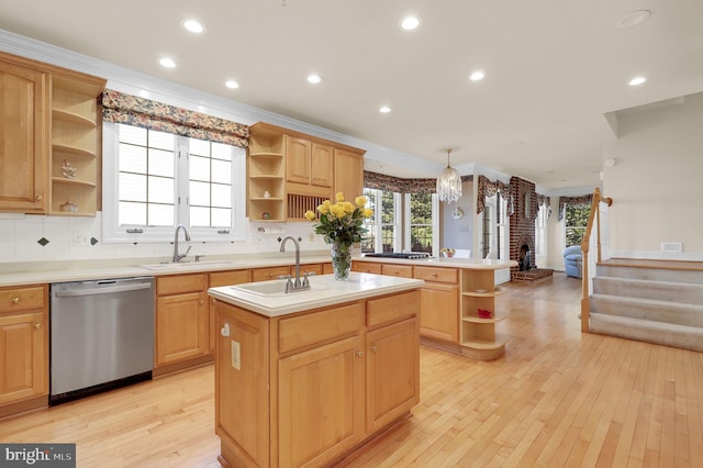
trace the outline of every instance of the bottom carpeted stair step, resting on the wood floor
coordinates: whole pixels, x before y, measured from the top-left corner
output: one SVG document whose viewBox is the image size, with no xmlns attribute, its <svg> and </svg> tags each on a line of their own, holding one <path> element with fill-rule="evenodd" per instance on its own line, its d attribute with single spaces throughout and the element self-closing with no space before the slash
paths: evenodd
<svg viewBox="0 0 703 468">
<path fill-rule="evenodd" d="M 703 352 L 703 328 L 626 316 L 593 313 L 591 333 Z"/>
</svg>

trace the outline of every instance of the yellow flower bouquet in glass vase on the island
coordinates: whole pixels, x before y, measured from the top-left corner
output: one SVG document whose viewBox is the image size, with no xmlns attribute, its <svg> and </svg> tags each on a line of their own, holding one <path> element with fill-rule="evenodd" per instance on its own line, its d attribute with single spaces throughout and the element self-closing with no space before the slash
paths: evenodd
<svg viewBox="0 0 703 468">
<path fill-rule="evenodd" d="M 367 199 L 359 196 L 354 203 L 344 199 L 344 193 L 335 196 L 336 202 L 325 200 L 317 207 L 317 213 L 305 212 L 309 221 L 315 221 L 315 233 L 324 235 L 325 242 L 332 246 L 332 266 L 335 278 L 345 280 L 352 268 L 352 245 L 361 242 L 367 232 L 364 220 L 371 218 L 373 211 L 366 208 Z"/>
</svg>

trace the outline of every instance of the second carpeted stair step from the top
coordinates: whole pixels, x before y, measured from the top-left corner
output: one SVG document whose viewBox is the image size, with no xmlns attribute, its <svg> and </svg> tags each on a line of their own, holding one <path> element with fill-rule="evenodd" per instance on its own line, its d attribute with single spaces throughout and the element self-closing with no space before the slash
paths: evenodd
<svg viewBox="0 0 703 468">
<path fill-rule="evenodd" d="M 593 292 L 687 304 L 703 304 L 703 283 L 603 276 L 593 278 Z"/>
</svg>

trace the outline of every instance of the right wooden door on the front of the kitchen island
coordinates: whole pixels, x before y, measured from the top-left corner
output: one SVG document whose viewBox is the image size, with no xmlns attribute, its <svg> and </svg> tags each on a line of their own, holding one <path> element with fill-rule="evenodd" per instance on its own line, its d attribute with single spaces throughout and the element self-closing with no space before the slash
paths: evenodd
<svg viewBox="0 0 703 468">
<path fill-rule="evenodd" d="M 368 332 L 366 343 L 366 430 L 370 433 L 420 401 L 417 319 Z"/>
</svg>

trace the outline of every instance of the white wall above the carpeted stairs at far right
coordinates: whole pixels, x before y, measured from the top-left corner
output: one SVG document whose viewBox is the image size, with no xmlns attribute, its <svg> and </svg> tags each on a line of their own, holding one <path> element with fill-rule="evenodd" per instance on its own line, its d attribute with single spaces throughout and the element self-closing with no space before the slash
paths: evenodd
<svg viewBox="0 0 703 468">
<path fill-rule="evenodd" d="M 703 93 L 683 103 L 617 113 L 604 146 L 603 189 L 613 257 L 703 260 Z M 660 252 L 681 242 L 683 254 Z"/>
</svg>

